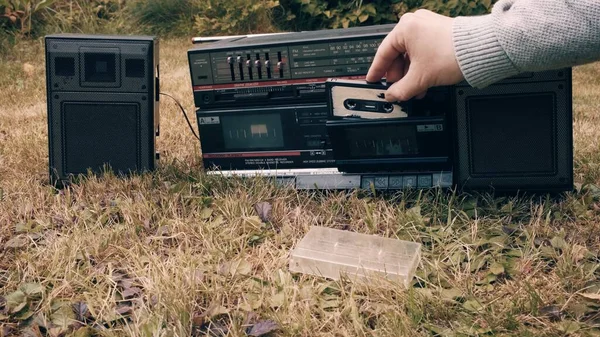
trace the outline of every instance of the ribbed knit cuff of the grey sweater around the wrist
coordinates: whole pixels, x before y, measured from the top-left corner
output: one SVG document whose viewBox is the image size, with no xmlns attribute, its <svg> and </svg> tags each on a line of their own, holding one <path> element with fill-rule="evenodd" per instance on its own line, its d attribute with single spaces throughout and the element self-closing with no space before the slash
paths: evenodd
<svg viewBox="0 0 600 337">
<path fill-rule="evenodd" d="M 496 37 L 492 15 L 457 17 L 452 35 L 456 59 L 471 86 L 484 88 L 519 73 Z"/>
</svg>

